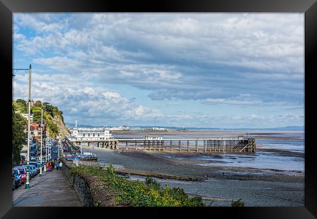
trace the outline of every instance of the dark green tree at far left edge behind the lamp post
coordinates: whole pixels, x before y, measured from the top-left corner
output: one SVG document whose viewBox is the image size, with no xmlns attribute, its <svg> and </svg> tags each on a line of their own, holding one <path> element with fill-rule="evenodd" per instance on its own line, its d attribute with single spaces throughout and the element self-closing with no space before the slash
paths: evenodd
<svg viewBox="0 0 317 219">
<path fill-rule="evenodd" d="M 15 107 L 12 106 L 12 154 L 13 164 L 20 164 L 20 151 L 22 144 L 25 144 L 25 133 L 23 125 L 25 125 L 25 118 L 19 113 L 15 112 Z"/>
</svg>

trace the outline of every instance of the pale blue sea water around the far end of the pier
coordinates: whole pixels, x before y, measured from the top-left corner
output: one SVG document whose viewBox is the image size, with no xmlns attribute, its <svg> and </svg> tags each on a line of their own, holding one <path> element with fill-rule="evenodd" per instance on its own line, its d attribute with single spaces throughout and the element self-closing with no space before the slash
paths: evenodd
<svg viewBox="0 0 317 219">
<path fill-rule="evenodd" d="M 224 133 L 219 133 L 223 131 Z M 113 133 L 115 138 L 143 138 L 145 135 L 158 135 L 164 139 L 168 138 L 197 138 L 197 137 L 237 137 L 237 130 L 190 130 L 183 134 L 173 135 L 167 134 L 145 134 L 127 133 L 116 134 Z M 203 136 L 201 133 L 203 132 Z M 246 136 L 246 131 L 240 131 Z M 228 167 L 245 167 L 255 169 L 267 169 L 276 171 L 304 171 L 304 131 L 250 131 L 248 137 L 256 138 L 257 151 L 255 153 L 230 153 L 223 152 L 211 155 L 198 155 L 189 158 L 178 157 L 177 154 L 173 156 L 166 156 L 172 159 L 191 159 L 191 160 L 204 160 L 210 161 L 206 164 L 197 165 L 211 165 L 211 166 L 228 166 Z M 240 134 L 239 134 L 240 135 Z M 265 136 L 266 138 L 272 136 L 272 139 L 257 139 L 257 137 Z M 280 139 L 279 139 L 280 138 Z M 284 140 L 289 138 L 290 140 Z M 298 139 L 298 140 L 293 140 Z M 262 150 L 263 148 L 263 150 Z M 269 149 L 269 150 L 268 150 Z M 273 149 L 273 151 L 270 151 Z M 292 152 L 292 153 L 283 153 Z"/>
</svg>

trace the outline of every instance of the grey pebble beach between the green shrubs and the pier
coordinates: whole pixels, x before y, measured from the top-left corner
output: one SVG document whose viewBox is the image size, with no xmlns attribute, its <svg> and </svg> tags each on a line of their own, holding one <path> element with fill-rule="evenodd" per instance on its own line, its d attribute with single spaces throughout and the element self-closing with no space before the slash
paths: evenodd
<svg viewBox="0 0 317 219">
<path fill-rule="evenodd" d="M 97 154 L 98 162 L 121 164 L 126 169 L 203 177 L 204 182 L 155 178 L 162 186 L 179 187 L 188 195 L 242 199 L 245 206 L 304 206 L 304 173 L 270 169 L 206 166 L 195 158 L 201 153 L 178 151 L 112 150 L 82 146 Z M 190 158 L 190 159 L 189 159 Z M 132 176 L 144 180 L 145 177 Z M 205 201 L 206 203 L 210 201 Z M 230 201 L 214 201 L 212 206 L 230 206 Z"/>
</svg>

